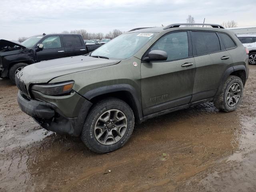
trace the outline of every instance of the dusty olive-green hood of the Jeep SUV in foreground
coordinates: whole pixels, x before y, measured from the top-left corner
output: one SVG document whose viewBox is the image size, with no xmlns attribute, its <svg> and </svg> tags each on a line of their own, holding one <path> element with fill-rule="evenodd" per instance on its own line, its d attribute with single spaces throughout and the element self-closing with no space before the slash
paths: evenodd
<svg viewBox="0 0 256 192">
<path fill-rule="evenodd" d="M 106 67 L 119 63 L 120 60 L 94 58 L 90 56 L 74 56 L 53 59 L 31 64 L 18 74 L 26 84 L 46 83 L 58 76 Z"/>
</svg>

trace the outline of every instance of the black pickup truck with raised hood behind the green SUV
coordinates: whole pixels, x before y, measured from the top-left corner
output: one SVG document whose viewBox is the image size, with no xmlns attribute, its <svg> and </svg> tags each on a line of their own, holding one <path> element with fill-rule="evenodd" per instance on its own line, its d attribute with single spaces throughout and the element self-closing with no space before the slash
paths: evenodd
<svg viewBox="0 0 256 192">
<path fill-rule="evenodd" d="M 85 45 L 79 34 L 42 34 L 17 41 L 0 40 L 0 77 L 15 83 L 15 74 L 29 64 L 43 60 L 78 56 L 101 46 Z"/>
</svg>

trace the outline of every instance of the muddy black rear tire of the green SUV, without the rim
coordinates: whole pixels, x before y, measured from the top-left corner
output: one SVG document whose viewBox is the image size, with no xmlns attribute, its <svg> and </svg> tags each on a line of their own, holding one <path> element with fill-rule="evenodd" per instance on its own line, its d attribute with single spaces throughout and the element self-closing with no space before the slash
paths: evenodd
<svg viewBox="0 0 256 192">
<path fill-rule="evenodd" d="M 228 96 L 228 91 L 230 90 L 231 86 L 234 84 L 239 84 L 240 86 L 240 97 L 237 102 L 232 102 L 234 106 L 230 106 L 228 104 L 227 96 Z M 238 76 L 230 75 L 224 82 L 222 89 L 220 90 L 220 94 L 216 96 L 216 98 L 214 99 L 214 106 L 217 109 L 222 110 L 224 112 L 234 111 L 238 108 L 240 102 L 242 101 L 243 93 L 244 93 L 244 84 L 242 80 Z"/>
</svg>

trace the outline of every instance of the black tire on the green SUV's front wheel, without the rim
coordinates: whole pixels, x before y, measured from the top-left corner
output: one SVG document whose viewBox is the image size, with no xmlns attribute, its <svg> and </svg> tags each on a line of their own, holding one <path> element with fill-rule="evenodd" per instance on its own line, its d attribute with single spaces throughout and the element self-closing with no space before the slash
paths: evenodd
<svg viewBox="0 0 256 192">
<path fill-rule="evenodd" d="M 124 115 L 124 117 L 126 118 L 125 122 L 126 122 L 126 130 L 125 127 L 124 130 L 122 130 L 122 136 L 120 138 L 118 138 L 119 140 L 112 140 L 112 142 L 115 142 L 114 144 L 102 144 L 99 140 L 97 140 L 96 138 L 96 131 L 98 131 L 97 128 L 95 128 L 96 123 L 102 123 L 101 126 L 103 127 L 107 127 L 110 126 L 110 124 L 112 123 L 112 120 L 106 120 L 105 122 L 110 123 L 110 124 L 106 124 L 103 121 L 101 122 L 101 120 L 99 120 L 100 118 L 102 118 L 102 116 L 104 116 L 105 114 L 110 114 L 112 111 L 111 110 L 116 110 L 116 111 L 120 111 L 121 113 L 117 112 L 117 114 L 121 114 Z M 113 117 L 113 115 L 112 115 Z M 118 117 L 119 118 L 119 117 Z M 106 119 L 108 119 L 108 116 L 106 117 Z M 114 119 L 113 118 L 109 118 L 109 119 Z M 116 122 L 117 123 L 117 122 Z M 116 126 L 116 123 L 114 123 L 113 120 L 113 124 Z M 105 128 L 106 128 L 105 127 Z M 128 139 L 130 138 L 132 131 L 134 128 L 134 114 L 132 112 L 132 109 L 130 108 L 130 106 L 124 102 L 123 100 L 120 100 L 118 98 L 107 98 L 105 100 L 101 100 L 100 102 L 98 102 L 97 104 L 95 104 L 94 106 L 92 106 L 92 108 L 90 109 L 85 123 L 84 123 L 84 127 L 82 129 L 82 133 L 81 133 L 81 139 L 84 142 L 84 144 L 93 152 L 96 153 L 107 153 L 107 152 L 111 152 L 114 151 L 122 146 L 124 146 L 124 144 L 128 141 Z M 95 130 L 96 129 L 96 130 Z M 102 134 L 102 130 L 104 128 L 100 128 L 100 134 Z M 114 126 L 113 126 L 113 130 L 109 131 L 110 129 L 106 128 L 106 137 L 104 138 L 108 138 L 108 134 L 110 133 L 111 135 L 114 135 L 113 132 L 115 133 L 114 130 Z M 121 130 L 121 128 L 120 128 Z M 98 136 L 99 136 L 98 135 Z M 102 134 L 103 135 L 103 134 Z M 117 136 L 119 137 L 119 136 Z M 103 136 L 102 136 L 103 138 Z M 110 138 L 111 139 L 111 138 Z M 107 139 L 108 140 L 108 139 Z M 111 140 L 110 140 L 111 141 Z M 102 141 L 104 142 L 104 141 Z"/>
</svg>

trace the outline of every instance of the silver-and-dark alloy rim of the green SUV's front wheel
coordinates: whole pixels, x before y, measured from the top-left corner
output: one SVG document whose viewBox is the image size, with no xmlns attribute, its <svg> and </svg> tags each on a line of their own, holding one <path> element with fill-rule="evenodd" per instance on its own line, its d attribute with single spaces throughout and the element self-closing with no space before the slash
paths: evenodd
<svg viewBox="0 0 256 192">
<path fill-rule="evenodd" d="M 98 142 L 111 145 L 118 142 L 125 134 L 127 118 L 117 109 L 104 112 L 96 121 L 94 134 Z"/>
</svg>

